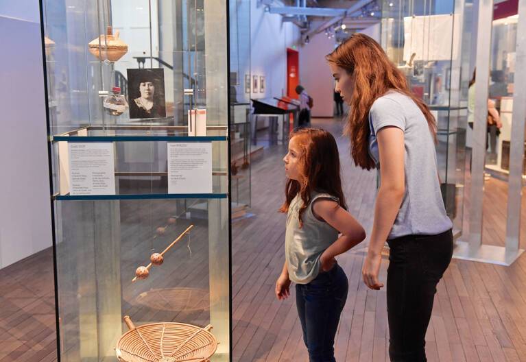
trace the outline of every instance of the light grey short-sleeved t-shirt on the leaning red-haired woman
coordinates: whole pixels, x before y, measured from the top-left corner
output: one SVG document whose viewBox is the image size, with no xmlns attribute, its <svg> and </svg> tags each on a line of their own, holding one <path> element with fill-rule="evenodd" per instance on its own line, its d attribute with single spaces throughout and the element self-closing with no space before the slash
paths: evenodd
<svg viewBox="0 0 526 362">
<path fill-rule="evenodd" d="M 437 157 L 427 119 L 407 95 L 390 91 L 369 111 L 369 151 L 380 169 L 376 134 L 394 126 L 404 132 L 405 194 L 388 239 L 405 235 L 434 235 L 453 227 L 446 215 L 437 172 Z"/>
</svg>

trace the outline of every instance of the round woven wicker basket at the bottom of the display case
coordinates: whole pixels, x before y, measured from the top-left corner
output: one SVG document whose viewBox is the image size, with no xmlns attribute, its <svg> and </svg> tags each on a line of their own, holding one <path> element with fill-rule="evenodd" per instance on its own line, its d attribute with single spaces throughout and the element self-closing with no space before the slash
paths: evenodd
<svg viewBox="0 0 526 362">
<path fill-rule="evenodd" d="M 115 352 L 121 362 L 206 362 L 217 350 L 217 339 L 204 328 L 183 323 L 152 323 L 134 326 L 124 317 L 124 333 Z"/>
</svg>

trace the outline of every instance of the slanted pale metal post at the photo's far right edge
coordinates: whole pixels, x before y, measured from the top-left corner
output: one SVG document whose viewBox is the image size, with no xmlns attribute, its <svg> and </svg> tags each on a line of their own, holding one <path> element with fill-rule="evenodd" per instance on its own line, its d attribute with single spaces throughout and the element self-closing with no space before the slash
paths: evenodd
<svg viewBox="0 0 526 362">
<path fill-rule="evenodd" d="M 514 256 L 521 241 L 521 201 L 523 189 L 524 131 L 526 119 L 526 0 L 518 2 L 514 74 L 512 139 L 510 142 L 510 180 L 507 189 L 506 252 Z"/>
</svg>

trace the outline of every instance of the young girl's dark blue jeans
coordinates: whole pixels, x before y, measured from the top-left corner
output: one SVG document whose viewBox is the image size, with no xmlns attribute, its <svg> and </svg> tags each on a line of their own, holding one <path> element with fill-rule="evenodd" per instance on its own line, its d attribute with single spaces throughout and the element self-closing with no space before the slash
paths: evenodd
<svg viewBox="0 0 526 362">
<path fill-rule="evenodd" d="M 335 362 L 334 338 L 347 300 L 347 276 L 339 265 L 296 285 L 296 306 L 310 362 Z"/>
</svg>

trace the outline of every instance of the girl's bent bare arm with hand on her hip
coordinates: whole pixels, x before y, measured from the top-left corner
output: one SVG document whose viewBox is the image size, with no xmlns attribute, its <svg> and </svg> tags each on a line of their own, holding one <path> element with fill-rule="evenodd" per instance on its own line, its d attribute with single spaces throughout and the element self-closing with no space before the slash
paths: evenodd
<svg viewBox="0 0 526 362">
<path fill-rule="evenodd" d="M 338 230 L 342 235 L 321 256 L 322 269 L 331 269 L 333 259 L 366 239 L 366 230 L 344 208 L 333 200 L 316 200 L 312 206 L 314 215 Z"/>
</svg>

